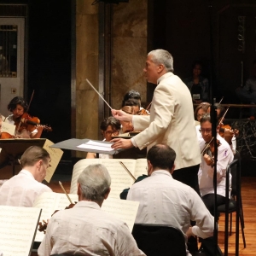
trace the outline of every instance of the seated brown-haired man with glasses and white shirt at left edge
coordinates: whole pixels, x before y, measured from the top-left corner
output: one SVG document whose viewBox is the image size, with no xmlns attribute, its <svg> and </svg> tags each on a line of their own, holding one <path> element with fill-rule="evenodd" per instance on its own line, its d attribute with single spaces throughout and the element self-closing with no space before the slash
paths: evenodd
<svg viewBox="0 0 256 256">
<path fill-rule="evenodd" d="M 52 192 L 42 181 L 49 167 L 49 153 L 38 146 L 27 148 L 20 159 L 22 170 L 0 188 L 0 205 L 32 207 L 38 195 Z"/>
</svg>

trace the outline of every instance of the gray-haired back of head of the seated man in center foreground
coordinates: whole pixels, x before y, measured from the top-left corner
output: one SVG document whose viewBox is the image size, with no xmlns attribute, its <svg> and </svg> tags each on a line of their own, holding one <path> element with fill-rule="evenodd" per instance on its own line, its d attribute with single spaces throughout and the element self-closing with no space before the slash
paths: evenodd
<svg viewBox="0 0 256 256">
<path fill-rule="evenodd" d="M 102 202 L 108 193 L 111 177 L 103 165 L 90 165 L 79 175 L 82 196 L 88 201 Z"/>
</svg>

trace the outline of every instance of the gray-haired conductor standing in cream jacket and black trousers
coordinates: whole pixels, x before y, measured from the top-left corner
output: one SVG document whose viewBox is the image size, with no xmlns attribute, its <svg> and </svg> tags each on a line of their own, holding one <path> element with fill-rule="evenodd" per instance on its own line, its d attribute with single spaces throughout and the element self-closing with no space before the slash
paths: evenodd
<svg viewBox="0 0 256 256">
<path fill-rule="evenodd" d="M 186 84 L 173 72 L 172 55 L 164 49 L 148 53 L 144 73 L 154 90 L 150 115 L 129 115 L 112 110 L 119 120 L 132 121 L 135 131 L 142 131 L 131 139 L 113 139 L 113 148 L 151 148 L 166 143 L 177 153 L 173 177 L 194 188 L 198 193 L 197 172 L 201 162 L 196 140 L 193 104 Z"/>
</svg>

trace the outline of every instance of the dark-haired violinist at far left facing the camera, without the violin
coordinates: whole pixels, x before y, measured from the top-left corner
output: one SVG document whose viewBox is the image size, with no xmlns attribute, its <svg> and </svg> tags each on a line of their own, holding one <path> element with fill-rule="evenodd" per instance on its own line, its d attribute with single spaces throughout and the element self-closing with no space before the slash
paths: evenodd
<svg viewBox="0 0 256 256">
<path fill-rule="evenodd" d="M 9 104 L 8 109 L 12 114 L 10 114 L 4 122 L 9 122 L 9 124 L 16 125 L 16 129 L 18 129 L 17 126 L 20 124 L 20 119 L 23 115 L 23 113 L 26 113 L 27 110 L 27 104 L 24 101 L 24 99 L 20 96 L 16 96 L 13 98 Z M 21 124 L 22 125 L 22 124 Z M 19 131 L 16 133 L 16 137 L 22 137 L 22 138 L 39 138 L 42 135 L 42 132 L 44 131 L 43 125 L 35 125 L 32 131 L 28 131 L 26 129 L 26 125 L 20 126 Z"/>
</svg>

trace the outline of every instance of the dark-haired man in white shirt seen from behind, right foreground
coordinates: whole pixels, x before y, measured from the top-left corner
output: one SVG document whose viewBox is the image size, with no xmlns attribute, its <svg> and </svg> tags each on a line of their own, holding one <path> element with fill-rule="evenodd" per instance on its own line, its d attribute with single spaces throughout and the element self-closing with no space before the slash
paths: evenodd
<svg viewBox="0 0 256 256">
<path fill-rule="evenodd" d="M 148 151 L 148 176 L 131 186 L 127 200 L 139 201 L 136 223 L 166 224 L 187 236 L 212 236 L 214 219 L 194 189 L 172 178 L 176 153 L 165 144 Z M 196 222 L 190 227 L 190 220 Z M 190 255 L 189 251 L 187 255 Z"/>
</svg>

